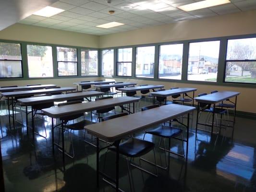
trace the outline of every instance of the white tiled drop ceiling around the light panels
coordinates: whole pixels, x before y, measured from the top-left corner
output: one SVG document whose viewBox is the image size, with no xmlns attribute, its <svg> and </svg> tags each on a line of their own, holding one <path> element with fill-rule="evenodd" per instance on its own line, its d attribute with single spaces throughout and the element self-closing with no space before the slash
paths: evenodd
<svg viewBox="0 0 256 192">
<path fill-rule="evenodd" d="M 50 6 L 64 9 L 52 17 L 30 15 L 21 24 L 49 27 L 78 33 L 106 35 L 147 26 L 176 23 L 209 16 L 256 9 L 256 0 L 231 0 L 231 3 L 211 8 L 184 12 L 177 8 L 201 0 L 59 0 Z M 122 6 L 132 6 L 130 10 Z M 109 11 L 113 10 L 113 15 Z M 110 29 L 96 27 L 110 22 L 123 23 Z"/>
</svg>

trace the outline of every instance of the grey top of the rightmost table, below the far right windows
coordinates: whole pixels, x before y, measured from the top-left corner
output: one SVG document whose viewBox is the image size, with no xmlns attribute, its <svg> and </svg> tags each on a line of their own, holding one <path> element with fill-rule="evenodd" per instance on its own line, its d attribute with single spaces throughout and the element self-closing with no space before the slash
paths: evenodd
<svg viewBox="0 0 256 192">
<path fill-rule="evenodd" d="M 195 97 L 195 101 L 202 102 L 202 103 L 219 103 L 221 101 L 224 101 L 228 98 L 238 96 L 239 92 L 234 91 L 219 91 L 217 93 L 208 94 L 206 96 L 198 96 Z"/>
</svg>

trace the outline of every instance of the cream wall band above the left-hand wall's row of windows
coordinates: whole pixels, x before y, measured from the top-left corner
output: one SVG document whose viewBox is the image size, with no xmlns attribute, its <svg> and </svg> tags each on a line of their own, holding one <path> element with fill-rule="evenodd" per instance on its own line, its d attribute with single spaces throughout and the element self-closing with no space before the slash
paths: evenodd
<svg viewBox="0 0 256 192">
<path fill-rule="evenodd" d="M 99 36 L 26 24 L 13 24 L 0 31 L 0 39 L 99 48 Z"/>
</svg>

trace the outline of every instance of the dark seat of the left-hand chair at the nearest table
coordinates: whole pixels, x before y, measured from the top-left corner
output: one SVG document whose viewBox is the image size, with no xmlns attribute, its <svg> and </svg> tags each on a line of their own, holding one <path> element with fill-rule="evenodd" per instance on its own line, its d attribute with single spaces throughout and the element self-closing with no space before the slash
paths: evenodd
<svg viewBox="0 0 256 192">
<path fill-rule="evenodd" d="M 143 156 L 152 149 L 154 149 L 155 144 L 149 141 L 132 138 L 121 144 L 119 144 L 119 153 L 124 156 L 138 157 Z M 116 151 L 115 146 L 109 147 L 111 151 Z"/>
</svg>

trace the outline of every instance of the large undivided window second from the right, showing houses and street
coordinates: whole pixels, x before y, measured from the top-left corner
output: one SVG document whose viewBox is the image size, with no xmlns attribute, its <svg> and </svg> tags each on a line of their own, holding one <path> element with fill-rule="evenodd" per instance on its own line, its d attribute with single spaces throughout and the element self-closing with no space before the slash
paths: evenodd
<svg viewBox="0 0 256 192">
<path fill-rule="evenodd" d="M 219 41 L 189 43 L 187 80 L 217 81 Z"/>
</svg>

